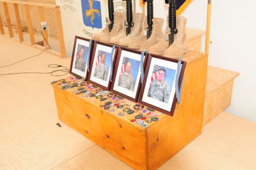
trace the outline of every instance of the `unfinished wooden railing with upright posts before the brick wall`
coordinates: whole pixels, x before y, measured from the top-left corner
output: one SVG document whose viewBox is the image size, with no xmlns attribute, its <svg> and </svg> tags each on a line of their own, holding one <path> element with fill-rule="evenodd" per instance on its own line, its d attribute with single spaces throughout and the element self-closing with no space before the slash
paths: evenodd
<svg viewBox="0 0 256 170">
<path fill-rule="evenodd" d="M 4 7 L 4 13 L 6 16 L 6 24 L 8 26 L 8 32 L 9 32 L 10 38 L 14 37 L 14 34 L 12 31 L 12 25 L 11 25 L 11 20 L 10 20 L 10 15 L 9 15 L 9 10 L 8 10 L 7 4 L 13 4 L 14 14 L 15 14 L 15 18 L 16 18 L 16 26 L 17 26 L 20 42 L 24 41 L 24 38 L 23 38 L 22 27 L 21 27 L 21 22 L 20 22 L 20 13 L 18 10 L 18 4 L 24 6 L 27 27 L 28 27 L 28 34 L 30 36 L 31 45 L 36 44 L 36 42 L 35 42 L 35 38 L 34 38 L 34 30 L 33 30 L 33 26 L 32 26 L 29 6 L 37 6 L 38 7 L 38 15 L 39 15 L 40 23 L 45 21 L 43 7 L 54 9 L 55 14 L 56 14 L 56 25 L 57 25 L 58 40 L 59 40 L 59 46 L 60 46 L 60 56 L 61 56 L 61 58 L 66 57 L 63 28 L 62 28 L 62 21 L 61 21 L 61 15 L 60 15 L 60 6 L 50 5 L 50 4 L 39 4 L 39 3 L 32 3 L 32 2 L 8 1 L 8 0 L 0 0 L 0 2 L 2 2 L 3 7 Z M 41 27 L 41 25 L 40 25 L 40 27 Z M 0 32 L 1 32 L 1 34 L 5 34 L 3 24 L 2 24 L 1 14 L 0 14 Z M 49 49 L 49 46 L 47 44 L 47 42 L 48 42 L 47 30 L 42 30 L 42 34 L 44 36 L 44 37 L 42 37 L 42 40 L 44 42 L 44 48 L 47 50 L 47 49 Z"/>
</svg>

